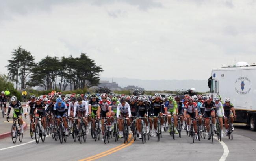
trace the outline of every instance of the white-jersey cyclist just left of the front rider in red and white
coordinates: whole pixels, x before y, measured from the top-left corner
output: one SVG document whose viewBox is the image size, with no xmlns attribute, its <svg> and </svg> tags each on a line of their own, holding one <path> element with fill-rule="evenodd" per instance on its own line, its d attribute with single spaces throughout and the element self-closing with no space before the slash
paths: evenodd
<svg viewBox="0 0 256 161">
<path fill-rule="evenodd" d="M 83 100 L 82 96 L 77 97 L 77 101 L 74 104 L 74 115 L 76 115 L 76 110 L 78 110 L 78 117 L 83 117 L 83 122 L 85 126 L 88 127 L 87 118 L 85 117 L 88 115 L 88 104 L 85 100 Z M 78 129 L 80 129 L 80 119 L 78 119 Z M 86 134 L 89 134 L 89 129 L 86 128 Z"/>
</svg>

